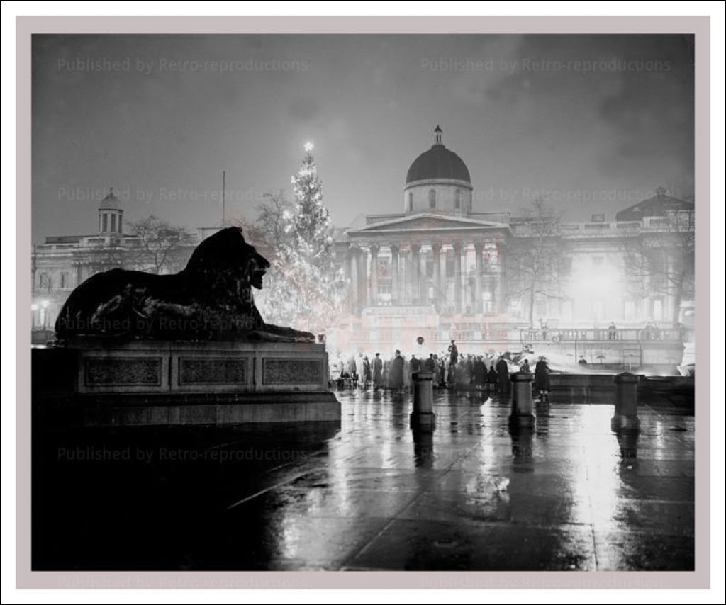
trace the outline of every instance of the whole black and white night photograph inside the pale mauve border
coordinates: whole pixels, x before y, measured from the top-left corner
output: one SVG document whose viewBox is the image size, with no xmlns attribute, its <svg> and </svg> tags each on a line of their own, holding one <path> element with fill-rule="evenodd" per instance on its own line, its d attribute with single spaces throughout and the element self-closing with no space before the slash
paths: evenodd
<svg viewBox="0 0 726 605">
<path fill-rule="evenodd" d="M 696 30 L 33 33 L 30 569 L 701 569 Z"/>
</svg>

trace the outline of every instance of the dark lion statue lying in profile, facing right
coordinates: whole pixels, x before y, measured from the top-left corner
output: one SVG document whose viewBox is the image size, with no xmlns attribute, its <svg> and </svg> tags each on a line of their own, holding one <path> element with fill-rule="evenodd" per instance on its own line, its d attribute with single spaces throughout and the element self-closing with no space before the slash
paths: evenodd
<svg viewBox="0 0 726 605">
<path fill-rule="evenodd" d="M 269 262 L 228 227 L 201 242 L 183 271 L 155 275 L 113 269 L 71 292 L 55 324 L 58 339 L 314 342 L 314 335 L 266 324 L 252 295 Z"/>
</svg>

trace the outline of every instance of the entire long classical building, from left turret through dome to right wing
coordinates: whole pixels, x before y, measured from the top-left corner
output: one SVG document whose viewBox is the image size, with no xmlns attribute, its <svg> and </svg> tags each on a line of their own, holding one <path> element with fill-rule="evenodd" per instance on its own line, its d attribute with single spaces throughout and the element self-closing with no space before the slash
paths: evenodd
<svg viewBox="0 0 726 605">
<path fill-rule="evenodd" d="M 692 250 L 679 250 L 693 237 L 693 203 L 664 189 L 621 210 L 616 221 L 600 213 L 587 223 L 558 223 L 547 235 L 556 289 L 537 287 L 534 296 L 522 294 L 523 275 L 512 260 L 536 244 L 536 221 L 474 207 L 470 172 L 444 146 L 439 126 L 431 148 L 410 165 L 402 193 L 399 212 L 362 215 L 335 229 L 335 261 L 351 284 L 338 324 L 328 330 L 340 350 L 411 351 L 417 337 L 427 350 L 452 338 L 470 352 L 502 350 L 532 339 L 597 340 L 613 322 L 624 331 L 619 339 L 637 341 L 645 324 L 666 329 L 693 321 L 693 284 L 672 279 L 682 263 L 693 266 Z M 179 270 L 218 229 L 198 229 L 162 271 Z M 123 231 L 111 191 L 99 205 L 96 234 L 52 235 L 34 247 L 33 327 L 44 337 L 83 280 L 114 267 L 150 269 L 142 242 Z M 165 237 L 174 243 L 174 233 Z M 652 271 L 641 274 L 638 255 L 648 255 Z M 298 319 L 304 328 L 305 318 Z"/>
</svg>

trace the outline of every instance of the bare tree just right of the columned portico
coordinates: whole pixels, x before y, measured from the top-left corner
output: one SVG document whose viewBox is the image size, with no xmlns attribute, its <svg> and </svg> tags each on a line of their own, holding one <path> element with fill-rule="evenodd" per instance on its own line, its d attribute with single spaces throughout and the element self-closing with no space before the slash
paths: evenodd
<svg viewBox="0 0 726 605">
<path fill-rule="evenodd" d="M 505 259 L 507 292 L 526 302 L 529 327 L 534 327 L 534 309 L 538 300 L 561 298 L 560 223 L 556 213 L 542 197 L 534 199 L 518 220 L 515 238 Z"/>
</svg>

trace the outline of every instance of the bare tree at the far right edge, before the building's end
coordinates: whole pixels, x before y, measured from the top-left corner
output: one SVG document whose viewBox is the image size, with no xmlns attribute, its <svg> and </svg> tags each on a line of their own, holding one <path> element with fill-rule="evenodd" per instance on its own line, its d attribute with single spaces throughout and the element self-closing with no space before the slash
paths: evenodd
<svg viewBox="0 0 726 605">
<path fill-rule="evenodd" d="M 672 300 L 671 321 L 679 321 L 682 300 L 695 285 L 693 210 L 679 210 L 656 219 L 653 231 L 641 231 L 624 244 L 629 290 L 638 296 L 664 295 Z M 651 226 L 653 219 L 651 219 Z"/>
</svg>

